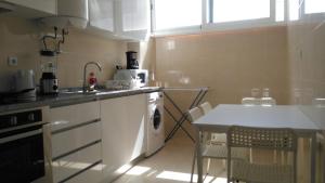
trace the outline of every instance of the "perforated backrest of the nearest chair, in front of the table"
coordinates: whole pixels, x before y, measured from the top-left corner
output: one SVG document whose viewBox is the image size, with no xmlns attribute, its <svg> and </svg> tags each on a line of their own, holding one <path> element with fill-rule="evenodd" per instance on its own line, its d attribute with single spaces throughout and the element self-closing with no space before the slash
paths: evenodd
<svg viewBox="0 0 325 183">
<path fill-rule="evenodd" d="M 227 146 L 296 152 L 297 135 L 291 129 L 233 126 L 227 132 Z"/>
</svg>

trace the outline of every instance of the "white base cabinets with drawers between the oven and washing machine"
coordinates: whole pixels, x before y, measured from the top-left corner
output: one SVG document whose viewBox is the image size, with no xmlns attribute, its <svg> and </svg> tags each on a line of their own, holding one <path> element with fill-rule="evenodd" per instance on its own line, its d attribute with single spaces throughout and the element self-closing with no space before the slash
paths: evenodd
<svg viewBox="0 0 325 183">
<path fill-rule="evenodd" d="M 110 182 L 146 149 L 146 94 L 49 109 L 53 182 Z"/>
</svg>

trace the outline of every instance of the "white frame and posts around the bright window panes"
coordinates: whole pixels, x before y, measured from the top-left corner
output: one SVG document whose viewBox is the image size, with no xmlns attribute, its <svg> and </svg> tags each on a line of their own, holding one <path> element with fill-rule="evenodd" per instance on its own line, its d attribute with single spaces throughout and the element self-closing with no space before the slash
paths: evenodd
<svg viewBox="0 0 325 183">
<path fill-rule="evenodd" d="M 299 0 L 301 2 L 299 8 L 299 15 L 297 21 L 290 21 L 290 23 L 304 21 L 304 19 L 324 19 L 325 13 L 312 13 L 307 14 L 304 12 L 304 0 Z M 276 21 L 276 0 L 270 0 L 270 17 L 256 18 L 256 19 L 243 19 L 243 21 L 232 21 L 213 23 L 213 8 L 211 4 L 212 0 L 202 0 L 202 25 L 198 26 L 185 26 L 178 28 L 170 28 L 164 30 L 156 30 L 155 22 L 155 0 L 151 0 L 152 8 L 152 36 L 153 37 L 164 37 L 164 36 L 174 36 L 174 35 L 190 35 L 190 34 L 203 34 L 208 31 L 224 31 L 224 30 L 238 30 L 238 29 L 249 29 L 259 27 L 272 27 L 272 26 L 286 26 L 289 19 L 289 2 L 284 0 L 284 21 Z"/>
</svg>

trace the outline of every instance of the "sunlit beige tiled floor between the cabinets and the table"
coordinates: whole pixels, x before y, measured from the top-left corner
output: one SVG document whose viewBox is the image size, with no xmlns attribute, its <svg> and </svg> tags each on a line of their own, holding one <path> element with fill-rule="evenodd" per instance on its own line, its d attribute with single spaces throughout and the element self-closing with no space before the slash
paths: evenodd
<svg viewBox="0 0 325 183">
<path fill-rule="evenodd" d="M 114 183 L 190 182 L 193 148 L 194 144 L 188 139 L 176 136 L 160 152 L 134 166 Z M 226 182 L 222 161 L 212 161 L 210 169 L 206 183 Z"/>
</svg>

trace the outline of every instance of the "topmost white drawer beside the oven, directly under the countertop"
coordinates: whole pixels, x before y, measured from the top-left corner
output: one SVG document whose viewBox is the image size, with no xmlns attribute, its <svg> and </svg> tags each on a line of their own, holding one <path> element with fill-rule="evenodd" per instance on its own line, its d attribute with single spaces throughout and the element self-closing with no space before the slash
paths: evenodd
<svg viewBox="0 0 325 183">
<path fill-rule="evenodd" d="M 100 118 L 100 103 L 89 102 L 63 107 L 50 108 L 52 131 L 77 126 Z"/>
</svg>

